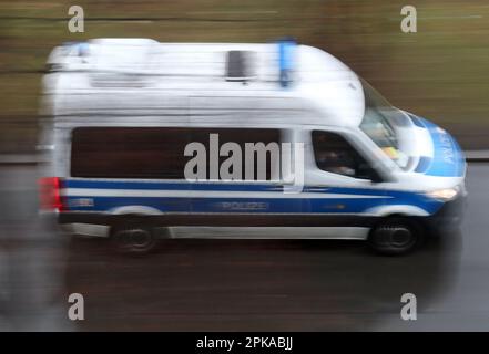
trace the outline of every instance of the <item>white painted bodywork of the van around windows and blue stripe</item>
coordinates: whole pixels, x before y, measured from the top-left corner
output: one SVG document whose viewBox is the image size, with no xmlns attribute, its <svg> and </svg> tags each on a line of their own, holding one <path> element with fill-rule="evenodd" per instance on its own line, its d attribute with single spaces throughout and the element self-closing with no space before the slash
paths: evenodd
<svg viewBox="0 0 489 354">
<path fill-rule="evenodd" d="M 254 53 L 254 77 L 248 81 L 226 81 L 228 51 Z M 408 194 L 420 198 L 427 191 L 452 188 L 463 183 L 465 173 L 461 176 L 444 177 L 399 168 L 359 127 L 365 114 L 365 97 L 359 77 L 333 55 L 312 46 L 297 45 L 294 49 L 293 80 L 287 87 L 282 87 L 279 83 L 279 58 L 275 43 L 159 43 L 145 39 L 101 39 L 89 41 L 83 46 L 77 44 L 58 48 L 50 55 L 48 64 L 55 67 L 54 72 L 43 79 L 43 112 L 53 117 L 52 126 L 49 127 L 52 134 L 43 144 L 50 146 L 52 152 L 51 176 L 78 180 L 70 176 L 71 134 L 77 127 L 238 127 L 276 128 L 287 132 L 291 142 L 304 143 L 304 183 L 313 189 L 300 196 L 287 196 L 288 199 L 326 200 L 328 189 L 349 188 L 356 191 L 352 195 L 335 191 L 329 198 L 378 198 L 380 202 L 395 198 L 395 194 L 405 192 L 405 199 L 409 197 Z M 347 138 L 384 180 L 374 183 L 319 169 L 314 158 L 310 136 L 312 131 L 323 129 L 339 133 Z M 412 138 L 405 144 L 414 156 L 435 155 L 428 129 L 419 126 L 406 129 L 412 129 L 406 134 L 410 134 Z M 419 157 L 414 158 L 414 166 L 418 165 L 418 160 Z M 106 181 L 103 178 L 88 180 Z M 167 180 L 153 179 L 151 183 Z M 269 186 L 273 184 L 264 183 Z M 393 195 L 387 195 L 386 190 L 393 191 Z M 98 197 L 186 196 L 237 199 L 251 196 L 243 191 L 149 192 L 137 189 L 70 187 L 62 190 L 62 195 L 67 197 L 83 197 L 86 194 Z M 255 191 L 253 196 L 285 198 L 284 194 L 277 195 L 273 191 Z M 386 202 L 352 215 L 430 215 L 428 206 L 425 208 L 424 205 L 408 205 L 405 199 L 400 199 L 400 204 L 389 201 L 389 205 Z M 340 208 L 342 205 L 338 205 L 338 209 Z M 167 212 L 134 204 L 110 208 L 102 214 L 155 216 Z M 94 236 L 108 236 L 110 232 L 109 228 L 82 222 L 73 222 L 69 228 L 83 235 L 92 232 Z M 171 229 L 173 237 L 198 237 L 198 232 L 207 237 L 218 237 L 228 231 L 222 228 L 224 231 L 220 233 L 217 229 L 206 227 L 187 228 L 187 231 L 193 229 L 195 232 L 184 232 L 185 227 Z M 208 232 L 210 230 L 214 231 Z M 295 227 L 292 231 L 284 231 L 275 227 L 268 233 L 256 227 L 246 230 L 257 231 L 263 238 L 278 235 L 281 238 L 366 239 L 369 228 Z M 233 235 L 240 232 L 234 230 Z M 246 237 L 253 236 L 246 233 Z"/>
</svg>

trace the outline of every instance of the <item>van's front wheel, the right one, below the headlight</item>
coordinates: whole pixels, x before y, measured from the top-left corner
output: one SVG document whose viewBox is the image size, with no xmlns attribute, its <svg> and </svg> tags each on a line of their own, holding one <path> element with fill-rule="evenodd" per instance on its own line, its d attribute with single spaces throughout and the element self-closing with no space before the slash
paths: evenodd
<svg viewBox="0 0 489 354">
<path fill-rule="evenodd" d="M 381 254 L 405 254 L 421 243 L 424 233 L 422 227 L 416 220 L 390 217 L 374 227 L 368 237 L 368 244 Z"/>
</svg>

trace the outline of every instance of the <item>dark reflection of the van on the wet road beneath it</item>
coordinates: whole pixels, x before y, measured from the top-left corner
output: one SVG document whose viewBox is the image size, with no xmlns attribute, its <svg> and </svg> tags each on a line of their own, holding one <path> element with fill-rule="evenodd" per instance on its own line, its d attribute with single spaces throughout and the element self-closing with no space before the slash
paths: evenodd
<svg viewBox="0 0 489 354">
<path fill-rule="evenodd" d="M 419 312 L 439 301 L 460 243 L 458 231 L 395 258 L 350 241 L 171 240 L 128 258 L 73 239 L 65 285 L 85 295 L 78 330 L 369 330 L 399 314 L 403 293 L 416 294 Z"/>
</svg>

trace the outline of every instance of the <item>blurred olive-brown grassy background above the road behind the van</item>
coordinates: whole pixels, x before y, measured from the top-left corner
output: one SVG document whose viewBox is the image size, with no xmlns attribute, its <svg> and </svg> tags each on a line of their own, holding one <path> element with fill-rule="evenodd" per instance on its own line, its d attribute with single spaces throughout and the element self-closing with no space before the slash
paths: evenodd
<svg viewBox="0 0 489 354">
<path fill-rule="evenodd" d="M 84 33 L 70 33 L 70 6 Z M 403 33 L 400 9 L 417 9 Z M 40 81 L 53 46 L 91 38 L 162 42 L 267 42 L 322 48 L 391 103 L 489 148 L 489 3 L 485 0 L 30 0 L 0 1 L 0 153 L 31 153 Z"/>
</svg>

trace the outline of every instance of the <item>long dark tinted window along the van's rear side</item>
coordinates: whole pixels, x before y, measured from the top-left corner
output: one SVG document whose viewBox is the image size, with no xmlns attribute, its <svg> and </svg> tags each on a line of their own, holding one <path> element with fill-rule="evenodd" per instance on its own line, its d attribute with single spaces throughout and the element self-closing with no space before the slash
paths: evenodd
<svg viewBox="0 0 489 354">
<path fill-rule="evenodd" d="M 185 166 L 193 158 L 184 155 L 185 146 L 200 143 L 206 154 L 205 179 L 220 175 L 224 164 L 233 179 L 275 180 L 279 177 L 279 138 L 281 132 L 272 128 L 78 127 L 71 135 L 71 176 L 184 179 Z M 233 143 L 236 156 L 223 148 L 226 143 Z M 225 163 L 230 158 L 233 164 Z M 211 165 L 214 159 L 217 166 Z M 211 166 L 217 170 L 211 173 Z M 245 174 L 246 167 L 251 174 Z"/>
</svg>

